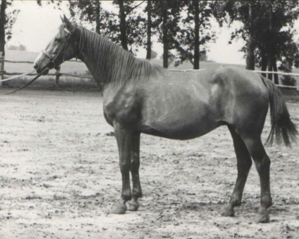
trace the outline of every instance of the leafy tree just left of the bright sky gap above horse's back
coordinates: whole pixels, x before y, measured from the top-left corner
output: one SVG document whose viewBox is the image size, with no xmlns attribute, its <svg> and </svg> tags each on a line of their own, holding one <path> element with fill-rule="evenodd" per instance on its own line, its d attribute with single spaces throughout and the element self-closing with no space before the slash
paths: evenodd
<svg viewBox="0 0 299 239">
<path fill-rule="evenodd" d="M 209 1 L 185 1 L 186 16 L 182 19 L 182 25 L 175 39 L 175 47 L 178 51 L 175 65 L 188 59 L 194 69 L 199 69 L 200 53 L 205 54 L 205 43 L 215 38 L 211 31 L 212 9 Z M 200 51 L 200 46 L 203 47 Z"/>
</svg>

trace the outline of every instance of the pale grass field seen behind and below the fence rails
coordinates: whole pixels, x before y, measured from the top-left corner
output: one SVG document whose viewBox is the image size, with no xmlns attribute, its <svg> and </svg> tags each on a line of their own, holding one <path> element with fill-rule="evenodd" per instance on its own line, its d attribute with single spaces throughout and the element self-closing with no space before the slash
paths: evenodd
<svg viewBox="0 0 299 239">
<path fill-rule="evenodd" d="M 38 52 L 27 52 L 27 51 L 17 51 L 17 50 L 6 50 L 5 52 L 5 59 L 7 60 L 14 60 L 14 61 L 34 61 L 39 53 Z M 162 65 L 162 59 L 152 59 L 151 62 Z M 226 67 L 240 67 L 245 69 L 245 65 L 236 65 L 236 64 L 222 64 L 222 63 L 215 63 L 211 61 L 204 61 L 200 62 L 201 69 L 211 69 L 211 68 L 218 68 L 220 66 Z M 192 69 L 193 66 L 190 62 L 184 62 L 180 64 L 178 67 L 174 67 L 173 63 L 169 65 L 169 69 Z M 28 63 L 9 63 L 5 62 L 4 69 L 7 72 L 30 72 L 33 71 L 33 64 Z M 258 69 L 257 69 L 258 70 Z M 52 70 L 54 73 L 55 70 Z M 89 75 L 89 71 L 84 63 L 82 62 L 64 62 L 61 65 L 61 72 L 62 73 L 69 73 L 75 74 L 79 76 L 87 76 Z M 299 69 L 294 69 L 294 73 L 299 73 Z M 15 88 L 20 87 L 25 84 L 28 79 L 32 77 L 23 77 L 18 80 L 13 80 L 11 82 L 3 83 L 3 87 Z M 297 80 L 298 81 L 298 80 Z M 297 84 L 298 85 L 298 84 Z M 90 79 L 80 79 L 80 78 L 72 78 L 72 77 L 60 77 L 59 86 L 55 83 L 54 76 L 42 76 L 34 82 L 30 88 L 33 89 L 99 89 L 97 84 L 94 80 Z M 299 99 L 299 92 L 296 90 L 291 91 L 284 91 L 284 94 L 287 96 L 288 99 L 291 101 Z"/>
</svg>

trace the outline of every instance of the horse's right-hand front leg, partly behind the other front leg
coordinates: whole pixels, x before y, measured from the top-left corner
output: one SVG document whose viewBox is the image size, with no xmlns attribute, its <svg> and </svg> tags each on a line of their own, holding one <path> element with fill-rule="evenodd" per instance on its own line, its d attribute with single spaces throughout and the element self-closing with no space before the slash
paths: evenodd
<svg viewBox="0 0 299 239">
<path fill-rule="evenodd" d="M 137 211 L 139 208 L 138 198 L 142 197 L 142 190 L 139 179 L 139 152 L 140 152 L 140 133 L 136 133 L 132 137 L 131 147 L 131 175 L 132 175 L 132 200 L 128 202 L 129 211 Z"/>
</svg>

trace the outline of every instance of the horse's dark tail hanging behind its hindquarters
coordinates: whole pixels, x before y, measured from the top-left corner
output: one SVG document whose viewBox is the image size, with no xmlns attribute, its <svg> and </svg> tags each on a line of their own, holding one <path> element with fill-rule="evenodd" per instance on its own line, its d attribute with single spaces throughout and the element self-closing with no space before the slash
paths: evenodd
<svg viewBox="0 0 299 239">
<path fill-rule="evenodd" d="M 272 145 L 274 135 L 276 135 L 276 141 L 278 143 L 281 142 L 281 137 L 283 136 L 285 144 L 291 146 L 291 141 L 296 140 L 298 131 L 296 125 L 290 119 L 284 96 L 272 81 L 265 77 L 262 77 L 262 80 L 269 91 L 271 114 L 271 131 L 266 143 Z"/>
</svg>

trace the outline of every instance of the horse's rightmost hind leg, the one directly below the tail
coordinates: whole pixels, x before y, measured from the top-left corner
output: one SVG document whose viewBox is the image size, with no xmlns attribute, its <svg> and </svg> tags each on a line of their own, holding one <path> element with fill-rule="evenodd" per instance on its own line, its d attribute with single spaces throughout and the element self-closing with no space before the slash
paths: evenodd
<svg viewBox="0 0 299 239">
<path fill-rule="evenodd" d="M 269 213 L 267 208 L 272 205 L 272 198 L 270 192 L 270 164 L 271 161 L 265 151 L 262 144 L 261 137 L 259 136 L 247 136 L 242 137 L 244 142 L 255 162 L 257 171 L 260 176 L 261 183 L 261 206 L 259 214 L 256 218 L 258 223 L 269 222 Z"/>
</svg>

